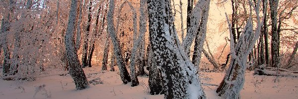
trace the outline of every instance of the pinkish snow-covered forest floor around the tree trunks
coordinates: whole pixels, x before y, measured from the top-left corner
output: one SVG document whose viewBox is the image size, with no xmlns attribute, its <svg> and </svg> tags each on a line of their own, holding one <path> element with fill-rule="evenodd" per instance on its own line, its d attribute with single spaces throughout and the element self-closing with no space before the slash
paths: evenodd
<svg viewBox="0 0 298 99">
<path fill-rule="evenodd" d="M 0 79 L 0 99 L 163 99 L 149 95 L 148 78 L 138 77 L 140 85 L 122 84 L 117 71 L 100 71 L 99 67 L 84 68 L 88 80 L 102 84 L 76 91 L 70 75 L 41 76 L 35 81 L 4 81 Z M 117 69 L 117 68 L 116 68 Z M 298 78 L 252 75 L 246 72 L 242 99 L 298 99 Z M 219 99 L 215 90 L 223 72 L 202 72 L 203 88 L 208 99 Z M 45 85 L 45 86 L 43 86 Z"/>
</svg>

